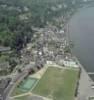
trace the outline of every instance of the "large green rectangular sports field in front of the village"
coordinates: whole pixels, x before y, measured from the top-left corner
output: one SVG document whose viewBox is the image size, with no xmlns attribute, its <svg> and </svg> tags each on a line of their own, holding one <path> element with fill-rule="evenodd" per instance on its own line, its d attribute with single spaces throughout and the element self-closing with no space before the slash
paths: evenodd
<svg viewBox="0 0 94 100">
<path fill-rule="evenodd" d="M 78 70 L 48 68 L 33 93 L 53 100 L 74 100 Z"/>
</svg>

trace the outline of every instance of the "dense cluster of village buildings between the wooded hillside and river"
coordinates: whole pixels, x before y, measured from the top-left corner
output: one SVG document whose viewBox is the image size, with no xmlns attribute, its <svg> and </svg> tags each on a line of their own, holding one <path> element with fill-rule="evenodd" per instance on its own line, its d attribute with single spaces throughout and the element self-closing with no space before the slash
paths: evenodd
<svg viewBox="0 0 94 100">
<path fill-rule="evenodd" d="M 42 29 L 34 28 L 34 30 L 32 42 L 21 51 L 20 64 L 15 67 L 10 75 L 1 76 L 1 83 L 4 81 L 3 78 L 10 80 L 4 82 L 4 87 L 1 87 L 3 90 L 1 91 L 1 99 L 9 96 L 8 90 L 12 88 L 11 91 L 13 91 L 18 80 L 21 82 L 24 77 L 44 69 L 44 66 L 61 66 L 65 69 L 78 70 L 80 68 L 70 53 L 71 48 L 67 41 L 65 29 L 59 30 L 55 26 L 48 26 Z M 9 52 L 9 49 L 3 50 L 3 52 Z M 14 82 L 16 82 L 15 85 Z"/>
</svg>

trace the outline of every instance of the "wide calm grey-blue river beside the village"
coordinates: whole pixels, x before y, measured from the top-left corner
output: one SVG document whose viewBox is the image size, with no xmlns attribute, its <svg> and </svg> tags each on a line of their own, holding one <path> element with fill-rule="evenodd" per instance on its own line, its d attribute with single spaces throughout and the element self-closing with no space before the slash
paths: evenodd
<svg viewBox="0 0 94 100">
<path fill-rule="evenodd" d="M 72 17 L 69 34 L 74 54 L 88 72 L 94 72 L 94 7 L 81 9 Z"/>
</svg>

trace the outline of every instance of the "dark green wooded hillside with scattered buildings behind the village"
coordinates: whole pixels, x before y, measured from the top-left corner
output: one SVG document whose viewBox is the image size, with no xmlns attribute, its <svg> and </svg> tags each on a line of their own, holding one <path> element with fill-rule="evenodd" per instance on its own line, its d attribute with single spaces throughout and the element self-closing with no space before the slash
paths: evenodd
<svg viewBox="0 0 94 100">
<path fill-rule="evenodd" d="M 34 34 L 32 26 L 43 28 L 83 4 L 82 0 L 0 0 L 0 45 L 21 50 Z"/>
</svg>

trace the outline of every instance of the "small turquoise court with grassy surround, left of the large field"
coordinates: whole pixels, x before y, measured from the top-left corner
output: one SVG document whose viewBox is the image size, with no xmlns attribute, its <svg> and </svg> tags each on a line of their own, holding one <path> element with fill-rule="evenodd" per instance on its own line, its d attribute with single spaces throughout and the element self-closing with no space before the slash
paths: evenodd
<svg viewBox="0 0 94 100">
<path fill-rule="evenodd" d="M 12 96 L 20 95 L 30 91 L 34 84 L 37 82 L 37 79 L 34 78 L 26 78 L 24 79 L 13 91 Z"/>
</svg>

